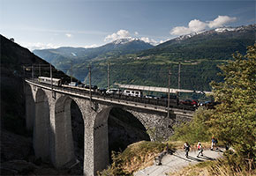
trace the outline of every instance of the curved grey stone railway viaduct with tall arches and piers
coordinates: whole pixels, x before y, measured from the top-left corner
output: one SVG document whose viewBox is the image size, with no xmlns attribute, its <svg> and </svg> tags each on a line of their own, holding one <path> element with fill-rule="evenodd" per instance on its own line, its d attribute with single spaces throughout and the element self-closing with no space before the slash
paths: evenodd
<svg viewBox="0 0 256 176">
<path fill-rule="evenodd" d="M 108 118 L 113 107 L 133 114 L 155 135 L 167 138 L 172 126 L 189 121 L 193 110 L 152 103 L 145 99 L 102 96 L 77 89 L 25 80 L 26 128 L 33 130 L 36 158 L 57 168 L 76 163 L 72 139 L 71 103 L 79 106 L 84 121 L 84 175 L 93 176 L 109 165 Z M 144 101 L 143 101 L 144 100 Z M 169 115 L 167 115 L 169 114 Z M 155 140 L 155 136 L 150 136 Z"/>
</svg>

